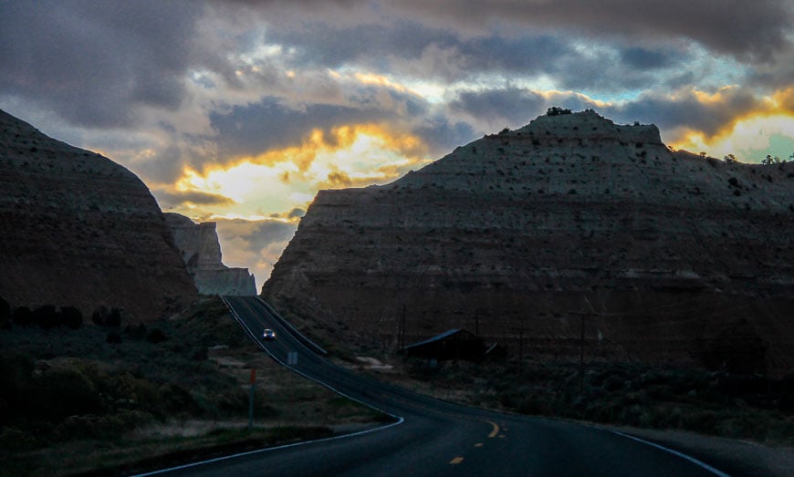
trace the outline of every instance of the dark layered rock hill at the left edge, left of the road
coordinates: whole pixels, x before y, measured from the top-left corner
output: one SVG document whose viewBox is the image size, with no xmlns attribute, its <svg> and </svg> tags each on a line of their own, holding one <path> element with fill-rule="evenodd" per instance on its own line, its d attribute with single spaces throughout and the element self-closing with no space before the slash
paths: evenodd
<svg viewBox="0 0 794 477">
<path fill-rule="evenodd" d="M 0 296 L 148 320 L 196 292 L 135 174 L 0 111 Z"/>
</svg>

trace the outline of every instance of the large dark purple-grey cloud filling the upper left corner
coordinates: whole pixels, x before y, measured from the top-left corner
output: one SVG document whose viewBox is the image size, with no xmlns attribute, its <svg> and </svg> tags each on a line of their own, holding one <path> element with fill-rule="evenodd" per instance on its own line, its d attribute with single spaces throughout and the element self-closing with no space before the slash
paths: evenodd
<svg viewBox="0 0 794 477">
<path fill-rule="evenodd" d="M 134 105 L 179 106 L 200 5 L 3 2 L 0 9 L 0 93 L 100 128 L 130 124 Z"/>
</svg>

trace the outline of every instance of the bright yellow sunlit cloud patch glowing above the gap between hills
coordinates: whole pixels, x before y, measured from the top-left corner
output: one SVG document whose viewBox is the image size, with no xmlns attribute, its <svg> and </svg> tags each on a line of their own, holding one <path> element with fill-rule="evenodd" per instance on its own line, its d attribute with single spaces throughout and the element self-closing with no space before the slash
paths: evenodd
<svg viewBox="0 0 794 477">
<path fill-rule="evenodd" d="M 234 203 L 221 206 L 220 215 L 251 218 L 305 208 L 319 189 L 393 181 L 428 162 L 425 155 L 416 136 L 378 125 L 350 125 L 328 134 L 314 130 L 300 146 L 227 166 L 185 168 L 175 188 L 227 197 Z"/>
</svg>

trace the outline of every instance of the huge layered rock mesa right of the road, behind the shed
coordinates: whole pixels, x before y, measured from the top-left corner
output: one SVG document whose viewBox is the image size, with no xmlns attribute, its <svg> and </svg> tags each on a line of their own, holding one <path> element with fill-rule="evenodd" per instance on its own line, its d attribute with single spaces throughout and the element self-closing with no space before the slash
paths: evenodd
<svg viewBox="0 0 794 477">
<path fill-rule="evenodd" d="M 385 186 L 319 192 L 263 286 L 308 331 L 445 329 L 525 356 L 794 364 L 794 163 L 673 152 L 653 125 L 543 116 Z M 737 331 L 738 330 L 738 331 Z"/>
</svg>

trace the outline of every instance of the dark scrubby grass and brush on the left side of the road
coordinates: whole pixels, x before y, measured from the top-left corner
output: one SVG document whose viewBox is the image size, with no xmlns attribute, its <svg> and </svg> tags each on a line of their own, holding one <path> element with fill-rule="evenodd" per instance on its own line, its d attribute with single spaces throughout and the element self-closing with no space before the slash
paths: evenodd
<svg viewBox="0 0 794 477">
<path fill-rule="evenodd" d="M 0 364 L 15 370 L 0 378 L 0 475 L 156 469 L 382 420 L 267 358 L 215 298 L 154 327 L 168 339 L 155 344 L 121 332 L 113 345 L 107 329 L 93 326 L 0 331 Z M 257 376 L 252 429 L 250 368 Z M 26 399 L 15 400 L 15 392 Z M 53 395 L 69 393 L 74 402 L 39 416 Z"/>
</svg>

